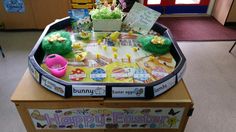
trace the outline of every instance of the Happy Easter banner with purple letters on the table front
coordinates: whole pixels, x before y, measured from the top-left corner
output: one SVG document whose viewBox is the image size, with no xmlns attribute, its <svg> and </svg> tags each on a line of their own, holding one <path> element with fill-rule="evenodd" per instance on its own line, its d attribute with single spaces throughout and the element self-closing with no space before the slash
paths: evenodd
<svg viewBox="0 0 236 132">
<path fill-rule="evenodd" d="M 28 112 L 37 130 L 178 129 L 184 108 L 28 109 Z"/>
</svg>

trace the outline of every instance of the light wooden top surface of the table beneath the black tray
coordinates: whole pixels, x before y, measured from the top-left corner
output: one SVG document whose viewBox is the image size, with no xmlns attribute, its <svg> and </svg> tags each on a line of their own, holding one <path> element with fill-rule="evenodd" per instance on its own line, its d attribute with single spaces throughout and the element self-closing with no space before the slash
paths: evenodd
<svg viewBox="0 0 236 132">
<path fill-rule="evenodd" d="M 175 87 L 166 93 L 149 100 L 140 99 L 111 99 L 103 97 L 70 97 L 64 98 L 56 95 L 44 87 L 42 87 L 38 82 L 36 82 L 31 76 L 29 70 L 27 69 L 18 86 L 16 87 L 11 100 L 13 102 L 44 102 L 44 101 L 104 101 L 104 102 L 183 102 L 191 103 L 192 99 L 185 86 L 183 80 L 181 80 Z"/>
</svg>

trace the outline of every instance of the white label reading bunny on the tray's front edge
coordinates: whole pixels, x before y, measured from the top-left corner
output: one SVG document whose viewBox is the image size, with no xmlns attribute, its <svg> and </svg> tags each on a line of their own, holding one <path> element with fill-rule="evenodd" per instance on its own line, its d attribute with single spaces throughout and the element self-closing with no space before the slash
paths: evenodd
<svg viewBox="0 0 236 132">
<path fill-rule="evenodd" d="M 72 96 L 105 96 L 106 86 L 72 85 Z"/>
</svg>

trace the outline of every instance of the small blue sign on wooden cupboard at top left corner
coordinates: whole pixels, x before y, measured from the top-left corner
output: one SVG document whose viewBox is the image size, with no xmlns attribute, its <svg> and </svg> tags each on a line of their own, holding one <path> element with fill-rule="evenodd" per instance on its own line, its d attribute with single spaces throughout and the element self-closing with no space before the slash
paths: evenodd
<svg viewBox="0 0 236 132">
<path fill-rule="evenodd" d="M 23 0 L 3 0 L 3 5 L 6 12 L 9 13 L 25 12 L 25 6 Z"/>
</svg>

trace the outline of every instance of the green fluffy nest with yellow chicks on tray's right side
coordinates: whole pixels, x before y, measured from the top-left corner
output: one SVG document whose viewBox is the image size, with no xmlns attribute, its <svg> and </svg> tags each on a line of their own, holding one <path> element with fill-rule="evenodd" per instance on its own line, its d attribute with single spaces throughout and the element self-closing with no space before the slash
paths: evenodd
<svg viewBox="0 0 236 132">
<path fill-rule="evenodd" d="M 145 36 L 138 38 L 138 42 L 141 44 L 145 51 L 153 54 L 162 55 L 170 51 L 172 44 L 169 38 L 163 36 Z"/>
</svg>

